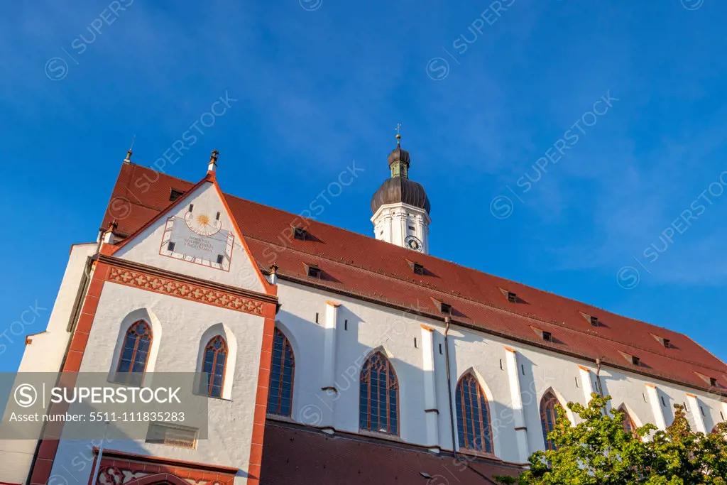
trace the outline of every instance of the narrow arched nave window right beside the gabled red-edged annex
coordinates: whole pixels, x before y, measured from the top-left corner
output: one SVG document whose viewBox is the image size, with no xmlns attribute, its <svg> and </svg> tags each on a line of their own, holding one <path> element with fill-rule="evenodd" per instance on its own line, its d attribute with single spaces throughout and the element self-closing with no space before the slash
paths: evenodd
<svg viewBox="0 0 727 485">
<path fill-rule="evenodd" d="M 279 329 L 273 335 L 273 358 L 270 361 L 268 385 L 268 412 L 290 416 L 293 404 L 293 376 L 295 356 L 287 337 Z"/>
</svg>

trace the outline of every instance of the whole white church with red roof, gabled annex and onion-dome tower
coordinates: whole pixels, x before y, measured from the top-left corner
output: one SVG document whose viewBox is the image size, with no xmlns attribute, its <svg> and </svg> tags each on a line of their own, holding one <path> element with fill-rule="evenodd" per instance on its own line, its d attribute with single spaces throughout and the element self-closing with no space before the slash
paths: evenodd
<svg viewBox="0 0 727 485">
<path fill-rule="evenodd" d="M 223 193 L 217 152 L 198 183 L 130 159 L 20 372 L 194 374 L 207 436 L 156 422 L 100 452 L 48 426 L 0 440 L 0 482 L 488 483 L 591 393 L 624 426 L 664 429 L 674 404 L 705 433 L 727 418 L 727 365 L 686 335 L 428 254 L 430 201 L 400 146 L 374 238 Z"/>
</svg>

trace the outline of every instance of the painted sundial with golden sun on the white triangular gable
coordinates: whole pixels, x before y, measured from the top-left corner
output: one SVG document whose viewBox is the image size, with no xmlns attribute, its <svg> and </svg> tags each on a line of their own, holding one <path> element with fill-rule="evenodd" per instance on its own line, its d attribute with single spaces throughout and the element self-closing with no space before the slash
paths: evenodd
<svg viewBox="0 0 727 485">
<path fill-rule="evenodd" d="M 233 231 L 222 228 L 220 212 L 194 210 L 166 220 L 159 254 L 220 270 L 230 270 Z"/>
</svg>

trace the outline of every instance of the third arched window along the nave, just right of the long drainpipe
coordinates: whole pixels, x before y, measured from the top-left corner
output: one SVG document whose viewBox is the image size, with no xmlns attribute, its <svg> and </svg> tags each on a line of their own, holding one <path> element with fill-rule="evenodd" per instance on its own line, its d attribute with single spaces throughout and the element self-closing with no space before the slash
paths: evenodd
<svg viewBox="0 0 727 485">
<path fill-rule="evenodd" d="M 490 408 L 473 374 L 465 374 L 457 383 L 456 401 L 459 446 L 492 453 Z"/>
</svg>

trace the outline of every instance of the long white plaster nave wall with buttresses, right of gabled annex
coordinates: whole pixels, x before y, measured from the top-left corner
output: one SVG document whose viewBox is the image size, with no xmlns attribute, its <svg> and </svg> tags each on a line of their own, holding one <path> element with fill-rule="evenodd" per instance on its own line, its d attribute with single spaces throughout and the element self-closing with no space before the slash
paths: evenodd
<svg viewBox="0 0 727 485">
<path fill-rule="evenodd" d="M 358 376 L 361 364 L 372 350 L 383 348 L 390 355 L 400 385 L 400 436 L 401 440 L 422 446 L 435 444 L 427 441 L 425 418 L 425 380 L 422 369 L 422 346 L 414 348 L 414 337 L 421 338 L 422 324 L 432 327 L 434 350 L 435 393 L 438 404 L 439 446 L 451 449 L 449 396 L 447 396 L 446 363 L 439 344 L 443 345 L 444 327 L 441 321 L 415 318 L 381 305 L 361 302 L 350 297 L 310 289 L 305 286 L 280 281 L 278 296 L 282 303 L 278 313 L 278 326 L 293 342 L 296 371 L 292 419 L 308 425 L 332 426 L 337 430 L 358 432 Z M 337 309 L 335 329 L 324 329 L 326 301 L 340 303 Z M 316 313 L 319 324 L 315 323 Z M 348 320 L 348 331 L 344 330 Z M 324 387 L 324 334 L 336 332 L 335 387 L 339 390 L 326 400 Z M 419 340 L 420 342 L 420 340 Z M 547 390 L 553 390 L 563 405 L 569 401 L 587 404 L 585 386 L 593 390 L 596 385 L 596 366 L 578 358 L 563 356 L 529 345 L 522 345 L 483 332 L 452 326 L 449 332 L 451 360 L 451 387 L 470 369 L 481 380 L 489 397 L 493 426 L 494 452 L 508 462 L 521 462 L 515 438 L 515 418 L 512 411 L 512 395 L 507 377 L 505 348 L 516 351 L 518 379 L 529 452 L 543 449 L 539 403 Z M 502 359 L 502 368 L 500 361 Z M 590 369 L 585 374 L 579 369 Z M 587 378 L 590 382 L 584 382 Z M 704 425 L 711 430 L 721 420 L 721 404 L 718 398 L 702 391 L 648 379 L 638 374 L 620 372 L 603 366 L 601 383 L 604 393 L 613 397 L 612 405 L 626 404 L 637 425 L 654 422 L 651 404 L 644 401 L 646 384 L 656 385 L 659 396 L 664 396 L 667 406 L 661 406 L 669 425 L 673 420 L 672 405 L 687 401 L 686 393 L 698 396 L 706 416 Z M 454 396 L 452 398 L 454 403 Z M 690 409 L 688 417 L 694 423 Z M 577 417 L 569 412 L 571 421 Z M 456 425 L 456 423 L 455 423 Z M 694 424 L 693 424 L 694 427 Z"/>
</svg>

